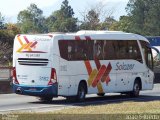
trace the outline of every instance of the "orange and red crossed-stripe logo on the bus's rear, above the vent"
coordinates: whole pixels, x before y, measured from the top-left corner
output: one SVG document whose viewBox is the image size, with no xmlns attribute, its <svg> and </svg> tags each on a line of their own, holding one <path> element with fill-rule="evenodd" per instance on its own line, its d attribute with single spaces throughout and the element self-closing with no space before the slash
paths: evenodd
<svg viewBox="0 0 160 120">
<path fill-rule="evenodd" d="M 36 48 L 37 41 L 30 42 L 26 36 L 23 36 L 25 42 L 22 41 L 21 36 L 17 36 L 18 42 L 20 43 L 21 47 L 17 50 L 19 53 L 45 53 L 42 51 L 33 51 Z"/>
</svg>

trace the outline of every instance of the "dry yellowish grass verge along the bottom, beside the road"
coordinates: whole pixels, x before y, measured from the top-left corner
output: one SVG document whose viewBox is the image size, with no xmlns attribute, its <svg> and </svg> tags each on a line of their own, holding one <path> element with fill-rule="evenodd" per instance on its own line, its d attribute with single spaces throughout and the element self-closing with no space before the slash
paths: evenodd
<svg viewBox="0 0 160 120">
<path fill-rule="evenodd" d="M 160 101 L 120 101 L 118 103 L 95 104 L 64 108 L 50 112 L 16 112 L 18 120 L 124 120 L 160 118 Z M 128 118 L 127 118 L 128 117 Z M 131 119 L 131 120 L 132 120 Z M 151 118 L 150 118 L 151 119 Z"/>
</svg>

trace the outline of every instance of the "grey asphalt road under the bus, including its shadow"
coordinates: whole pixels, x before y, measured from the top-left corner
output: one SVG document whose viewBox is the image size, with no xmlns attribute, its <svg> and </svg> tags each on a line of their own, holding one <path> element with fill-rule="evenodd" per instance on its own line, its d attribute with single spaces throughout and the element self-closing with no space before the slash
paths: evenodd
<svg viewBox="0 0 160 120">
<path fill-rule="evenodd" d="M 160 100 L 160 84 L 155 84 L 153 90 L 141 91 L 140 97 L 130 98 L 120 94 L 106 94 L 104 97 L 87 95 L 84 103 L 67 102 L 65 98 L 53 98 L 50 103 L 40 102 L 31 96 L 16 94 L 0 94 L 0 114 L 6 112 L 46 112 L 69 107 L 88 106 L 104 103 L 120 103 L 123 101 L 154 101 Z"/>
</svg>

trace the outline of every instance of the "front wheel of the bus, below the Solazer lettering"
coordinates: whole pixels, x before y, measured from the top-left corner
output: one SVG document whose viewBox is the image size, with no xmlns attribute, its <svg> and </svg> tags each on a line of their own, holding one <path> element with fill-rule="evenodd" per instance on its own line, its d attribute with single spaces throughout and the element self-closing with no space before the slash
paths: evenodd
<svg viewBox="0 0 160 120">
<path fill-rule="evenodd" d="M 135 81 L 133 85 L 133 91 L 131 92 L 131 97 L 138 97 L 140 93 L 140 83 L 139 81 Z"/>
</svg>

